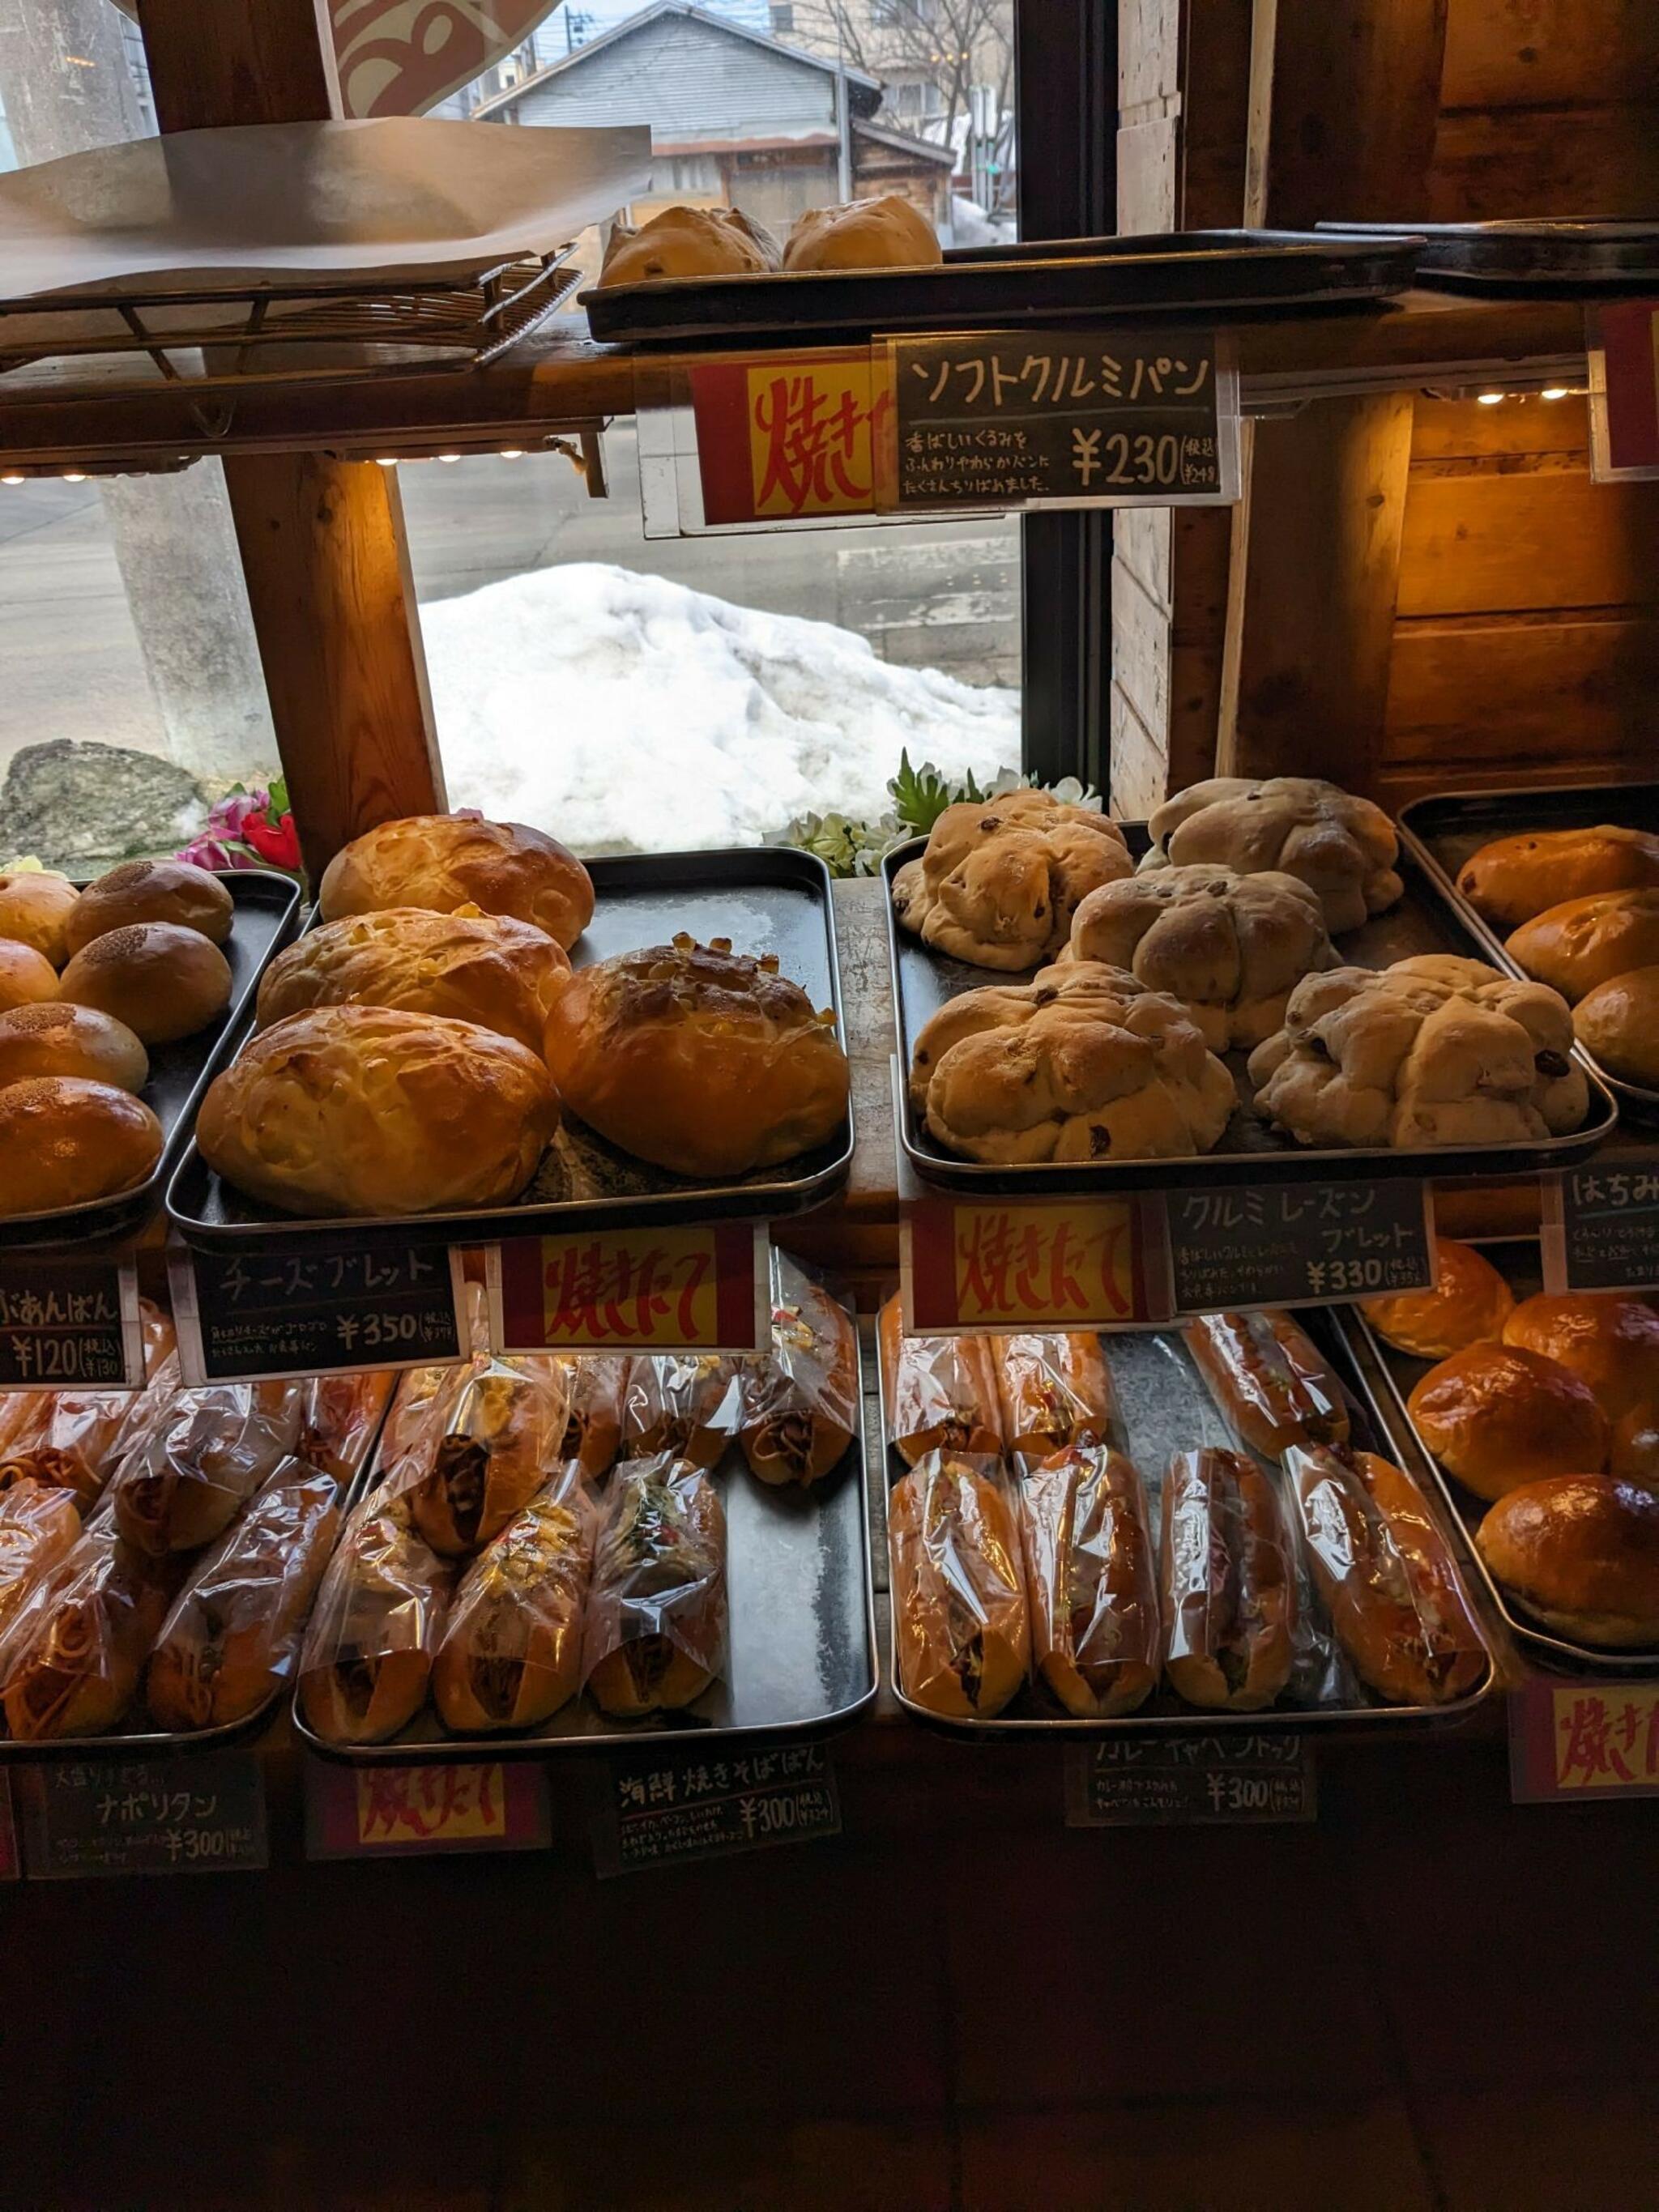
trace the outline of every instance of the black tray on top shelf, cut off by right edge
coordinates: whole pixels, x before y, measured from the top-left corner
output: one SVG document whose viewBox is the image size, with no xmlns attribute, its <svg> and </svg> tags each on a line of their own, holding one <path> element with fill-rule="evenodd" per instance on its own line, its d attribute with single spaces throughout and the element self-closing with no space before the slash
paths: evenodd
<svg viewBox="0 0 1659 2212">
<path fill-rule="evenodd" d="M 1584 296 L 1659 283 L 1659 221 L 1321 223 L 1349 239 L 1411 241 L 1418 283 L 1444 292 Z"/>
</svg>

